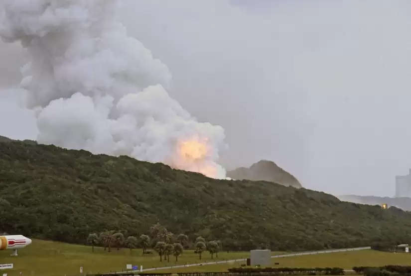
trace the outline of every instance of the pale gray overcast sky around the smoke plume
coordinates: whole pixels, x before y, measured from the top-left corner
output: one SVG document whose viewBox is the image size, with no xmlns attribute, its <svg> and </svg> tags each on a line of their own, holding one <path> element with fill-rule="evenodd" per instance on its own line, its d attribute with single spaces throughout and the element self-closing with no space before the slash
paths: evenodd
<svg viewBox="0 0 411 276">
<path fill-rule="evenodd" d="M 411 2 L 123 0 L 129 33 L 165 63 L 169 93 L 220 124 L 231 169 L 269 159 L 303 186 L 394 195 L 411 167 Z M 0 88 L 25 53 L 0 44 Z M 0 135 L 36 137 L 3 91 Z"/>
</svg>

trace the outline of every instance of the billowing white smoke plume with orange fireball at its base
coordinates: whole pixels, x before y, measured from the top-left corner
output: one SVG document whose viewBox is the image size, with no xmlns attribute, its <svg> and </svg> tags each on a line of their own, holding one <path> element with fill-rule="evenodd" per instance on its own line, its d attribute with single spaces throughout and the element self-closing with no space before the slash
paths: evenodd
<svg viewBox="0 0 411 276">
<path fill-rule="evenodd" d="M 167 67 L 116 20 L 115 0 L 1 0 L 0 36 L 30 54 L 22 68 L 40 143 L 129 155 L 224 178 L 224 130 L 165 91 Z"/>
</svg>

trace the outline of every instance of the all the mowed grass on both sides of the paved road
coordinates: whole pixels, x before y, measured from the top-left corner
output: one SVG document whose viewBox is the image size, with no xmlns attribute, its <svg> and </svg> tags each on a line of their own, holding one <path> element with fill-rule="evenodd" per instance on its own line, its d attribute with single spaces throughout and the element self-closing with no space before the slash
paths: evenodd
<svg viewBox="0 0 411 276">
<path fill-rule="evenodd" d="M 143 268 L 172 266 L 174 257 L 170 256 L 170 262 L 159 262 L 156 254 L 141 255 L 141 250 L 113 249 L 111 253 L 103 248 L 96 247 L 95 252 L 91 247 L 73 245 L 59 242 L 33 240 L 27 248 L 19 250 L 18 257 L 9 256 L 11 251 L 0 251 L 0 264 L 14 264 L 14 269 L 4 270 L 8 276 L 71 276 L 79 275 L 79 268 L 84 268 L 84 273 L 103 273 L 110 271 L 124 271 L 126 264 L 142 265 Z M 155 252 L 154 252 L 155 253 Z M 273 255 L 283 252 L 273 252 Z M 220 252 L 217 260 L 231 260 L 249 257 L 249 252 Z M 202 262 L 216 261 L 210 258 L 210 254 L 203 253 Z M 200 263 L 198 255 L 191 250 L 184 251 L 178 259 L 177 265 Z M 384 266 L 384 265 L 410 265 L 411 254 L 386 253 L 373 250 L 338 252 L 318 255 L 304 255 L 297 257 L 274 258 L 273 267 L 342 267 L 351 269 L 353 266 Z M 279 263 L 279 265 L 274 265 Z M 228 263 L 222 265 L 204 265 L 198 267 L 158 270 L 165 272 L 213 272 L 227 271 L 228 268 L 239 267 L 241 263 Z M 150 271 L 151 272 L 151 271 Z M 155 272 L 155 271 L 152 271 Z"/>
</svg>

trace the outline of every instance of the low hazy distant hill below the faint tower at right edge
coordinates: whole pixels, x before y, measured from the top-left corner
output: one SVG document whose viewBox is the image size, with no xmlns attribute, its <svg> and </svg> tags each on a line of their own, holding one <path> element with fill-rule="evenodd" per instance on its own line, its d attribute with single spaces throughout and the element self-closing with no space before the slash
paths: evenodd
<svg viewBox="0 0 411 276">
<path fill-rule="evenodd" d="M 339 195 L 338 198 L 343 201 L 349 201 L 360 204 L 381 205 L 387 203 L 389 206 L 396 206 L 405 211 L 411 211 L 410 197 L 381 197 L 381 196 L 362 196 L 362 195 Z"/>
</svg>

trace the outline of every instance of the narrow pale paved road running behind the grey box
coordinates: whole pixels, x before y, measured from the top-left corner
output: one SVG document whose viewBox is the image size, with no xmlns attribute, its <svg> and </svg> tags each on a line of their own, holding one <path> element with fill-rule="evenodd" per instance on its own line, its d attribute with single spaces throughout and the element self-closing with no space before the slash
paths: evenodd
<svg viewBox="0 0 411 276">
<path fill-rule="evenodd" d="M 355 247 L 355 248 L 329 249 L 329 250 L 320 250 L 320 251 L 306 251 L 306 252 L 300 252 L 300 253 L 273 255 L 273 256 L 271 256 L 271 258 L 286 258 L 286 257 L 293 257 L 293 256 L 316 255 L 316 254 L 326 254 L 326 253 L 346 252 L 346 251 L 358 251 L 358 250 L 367 250 L 367 249 L 371 249 L 371 247 L 366 246 L 366 247 Z M 218 265 L 218 264 L 226 264 L 226 263 L 246 262 L 246 260 L 247 259 L 235 259 L 235 260 L 207 262 L 207 263 L 199 263 L 199 264 L 188 264 L 188 265 L 179 265 L 179 266 L 170 266 L 170 267 L 149 268 L 149 269 L 143 269 L 142 271 L 146 272 L 146 271 L 156 271 L 156 270 L 164 270 L 164 269 L 175 269 L 175 268 L 198 267 L 198 266 L 207 266 L 207 265 Z M 124 272 L 126 272 L 126 271 L 124 271 Z M 138 271 L 127 271 L 127 272 L 138 272 Z"/>
</svg>

